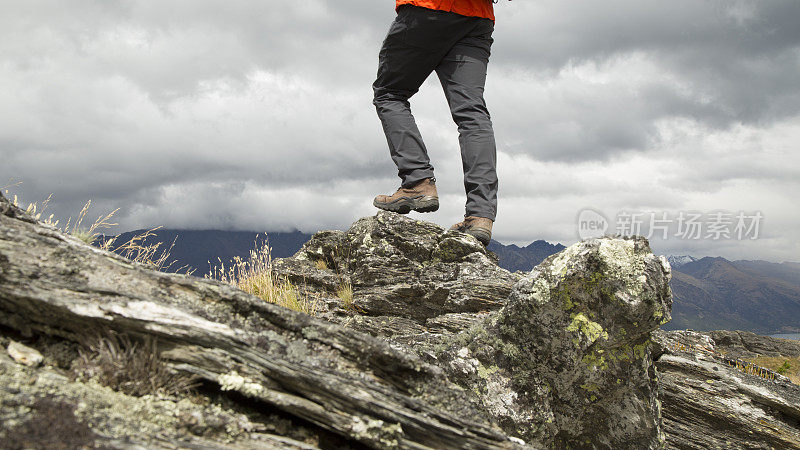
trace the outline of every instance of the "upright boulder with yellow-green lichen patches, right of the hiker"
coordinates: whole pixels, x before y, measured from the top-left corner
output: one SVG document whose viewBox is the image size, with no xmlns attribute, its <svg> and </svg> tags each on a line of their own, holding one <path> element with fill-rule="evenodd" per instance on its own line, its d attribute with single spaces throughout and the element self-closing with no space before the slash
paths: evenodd
<svg viewBox="0 0 800 450">
<path fill-rule="evenodd" d="M 501 310 L 430 351 L 514 436 L 658 448 L 648 345 L 669 319 L 669 278 L 643 238 L 581 242 L 537 266 Z"/>
</svg>

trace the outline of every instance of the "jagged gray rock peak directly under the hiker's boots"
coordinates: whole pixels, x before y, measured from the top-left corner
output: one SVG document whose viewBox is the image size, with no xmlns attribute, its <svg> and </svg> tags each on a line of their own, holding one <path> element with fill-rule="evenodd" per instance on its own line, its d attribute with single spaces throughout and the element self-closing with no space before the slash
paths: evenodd
<svg viewBox="0 0 800 450">
<path fill-rule="evenodd" d="M 500 268 L 474 237 L 386 211 L 346 232 L 315 234 L 296 255 L 276 260 L 275 268 L 327 298 L 321 312 L 328 320 L 344 321 L 346 311 L 337 310 L 335 297 L 339 286 L 349 284 L 351 310 L 408 318 L 423 329 L 447 314 L 500 308 L 520 279 Z M 433 323 L 431 331 L 437 329 Z"/>
</svg>

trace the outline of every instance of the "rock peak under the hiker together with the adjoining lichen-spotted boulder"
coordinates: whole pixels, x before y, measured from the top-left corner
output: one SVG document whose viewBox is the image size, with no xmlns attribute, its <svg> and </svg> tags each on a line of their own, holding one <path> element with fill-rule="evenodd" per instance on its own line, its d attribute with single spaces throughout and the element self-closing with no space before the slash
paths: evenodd
<svg viewBox="0 0 800 450">
<path fill-rule="evenodd" d="M 329 320 L 416 344 L 514 436 L 640 448 L 663 439 L 648 344 L 669 320 L 670 270 L 644 239 L 579 243 L 523 277 L 469 236 L 381 212 L 319 233 L 277 267 L 328 298 Z M 342 280 L 356 317 L 326 297 Z"/>
</svg>

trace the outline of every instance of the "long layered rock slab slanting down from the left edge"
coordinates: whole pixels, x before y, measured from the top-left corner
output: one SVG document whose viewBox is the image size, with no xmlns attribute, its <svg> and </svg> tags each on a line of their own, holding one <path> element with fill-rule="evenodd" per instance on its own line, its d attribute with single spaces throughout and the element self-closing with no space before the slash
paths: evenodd
<svg viewBox="0 0 800 450">
<path fill-rule="evenodd" d="M 517 445 L 471 393 L 408 347 L 224 283 L 148 270 L 52 227 L 17 220 L 25 215 L 13 207 L 7 211 L 0 214 L 0 335 L 10 330 L 26 345 L 38 336 L 80 343 L 98 331 L 153 338 L 158 345 L 152 359 L 199 377 L 214 395 L 275 411 L 317 436 L 336 435 L 343 443 L 328 444 L 334 448 Z M 24 383 L 11 385 L 12 404 L 37 396 Z M 80 410 L 67 399 L 58 403 Z M 0 414 L 11 407 L 3 405 Z M 170 436 L 180 435 L 173 421 L 165 426 Z M 158 447 L 161 434 L 145 431 L 140 439 Z"/>
</svg>

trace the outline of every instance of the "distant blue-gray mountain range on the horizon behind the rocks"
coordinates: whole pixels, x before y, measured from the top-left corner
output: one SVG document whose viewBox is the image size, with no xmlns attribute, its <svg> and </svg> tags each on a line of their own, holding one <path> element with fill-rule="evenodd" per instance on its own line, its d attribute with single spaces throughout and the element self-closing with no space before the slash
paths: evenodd
<svg viewBox="0 0 800 450">
<path fill-rule="evenodd" d="M 124 233 L 118 242 L 141 234 Z M 256 233 L 219 230 L 169 230 L 154 232 L 150 243 L 175 242 L 172 269 L 195 268 L 203 276 L 212 267 L 232 258 L 246 257 L 256 242 L 268 238 L 273 258 L 296 253 L 311 235 L 300 231 Z M 510 271 L 529 271 L 548 256 L 565 247 L 537 240 L 525 247 L 497 241 L 489 250 L 499 265 Z M 744 330 L 760 334 L 800 332 L 800 263 L 728 261 L 720 257 L 669 256 L 673 268 L 674 303 L 668 330 L 691 328 L 698 331 Z"/>
</svg>

